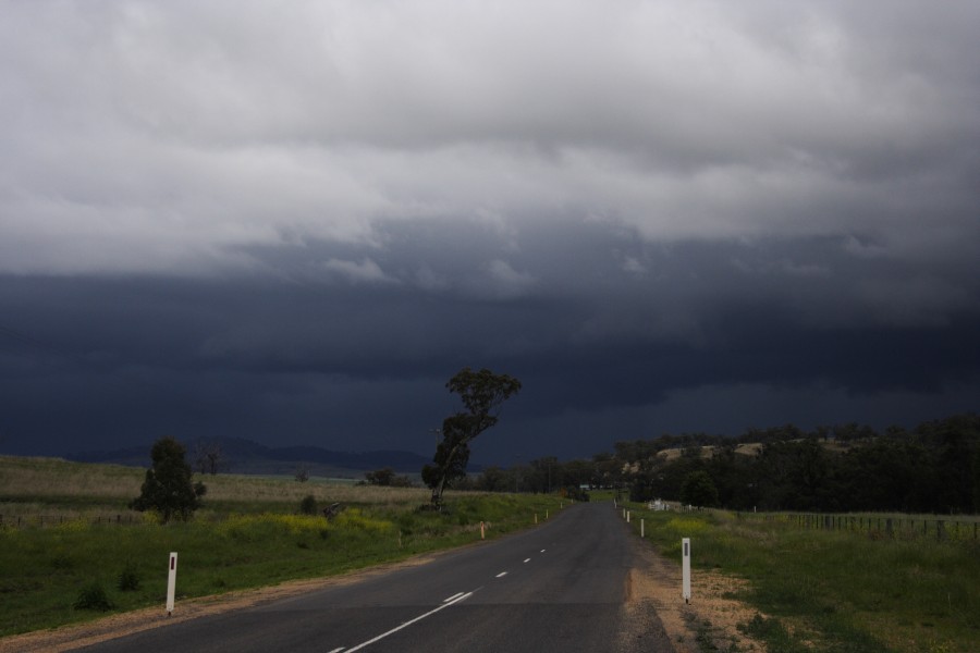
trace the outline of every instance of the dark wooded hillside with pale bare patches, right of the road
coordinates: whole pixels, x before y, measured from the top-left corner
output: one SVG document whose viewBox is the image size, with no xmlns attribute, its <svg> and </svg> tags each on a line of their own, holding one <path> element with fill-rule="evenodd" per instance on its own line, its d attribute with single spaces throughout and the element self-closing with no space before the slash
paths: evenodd
<svg viewBox="0 0 980 653">
<path fill-rule="evenodd" d="M 615 488 L 735 510 L 980 513 L 980 417 L 965 414 L 879 432 L 856 423 L 793 424 L 738 436 L 664 434 L 612 453 L 488 467 L 461 490 L 576 492 Z"/>
</svg>

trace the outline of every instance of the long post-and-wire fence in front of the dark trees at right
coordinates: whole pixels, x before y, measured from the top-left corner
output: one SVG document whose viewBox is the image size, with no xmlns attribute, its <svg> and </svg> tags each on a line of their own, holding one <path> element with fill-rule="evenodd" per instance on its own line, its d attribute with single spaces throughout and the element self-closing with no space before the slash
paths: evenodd
<svg viewBox="0 0 980 653">
<path fill-rule="evenodd" d="M 934 538 L 941 542 L 980 539 L 980 521 L 977 520 L 792 513 L 765 515 L 763 519 L 810 530 L 850 531 L 882 539 Z"/>
</svg>

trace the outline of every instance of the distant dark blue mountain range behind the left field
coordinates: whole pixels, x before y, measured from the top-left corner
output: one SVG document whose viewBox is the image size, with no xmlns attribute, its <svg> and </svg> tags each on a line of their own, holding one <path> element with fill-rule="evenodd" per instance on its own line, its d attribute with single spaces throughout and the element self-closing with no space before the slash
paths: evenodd
<svg viewBox="0 0 980 653">
<path fill-rule="evenodd" d="M 363 478 L 365 471 L 391 467 L 397 473 L 417 475 L 430 457 L 413 452 L 333 452 L 318 446 L 269 447 L 240 438 L 211 438 L 183 442 L 187 461 L 195 471 L 208 470 L 207 457 L 217 452 L 218 473 L 294 475 L 301 469 L 309 476 Z M 111 463 L 133 467 L 150 466 L 152 444 L 112 451 L 68 454 L 78 463 Z"/>
</svg>

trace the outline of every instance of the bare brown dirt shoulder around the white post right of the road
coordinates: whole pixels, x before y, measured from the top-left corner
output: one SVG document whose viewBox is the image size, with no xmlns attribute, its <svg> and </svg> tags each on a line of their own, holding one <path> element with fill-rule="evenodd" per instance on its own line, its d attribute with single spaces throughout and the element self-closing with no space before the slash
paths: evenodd
<svg viewBox="0 0 980 653">
<path fill-rule="evenodd" d="M 659 625 L 677 653 L 700 651 L 757 651 L 765 645 L 738 631 L 759 611 L 734 599 L 732 592 L 746 581 L 700 569 L 691 572 L 690 603 L 681 594 L 681 569 L 659 555 L 652 546 L 637 546 L 637 563 L 629 574 L 630 618 L 650 621 L 656 612 Z M 712 648 L 713 646 L 713 648 Z"/>
</svg>

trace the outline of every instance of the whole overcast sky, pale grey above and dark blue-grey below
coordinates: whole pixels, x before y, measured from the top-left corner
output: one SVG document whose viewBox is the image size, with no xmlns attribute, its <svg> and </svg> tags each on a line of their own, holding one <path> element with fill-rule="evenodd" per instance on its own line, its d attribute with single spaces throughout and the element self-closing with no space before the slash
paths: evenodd
<svg viewBox="0 0 980 653">
<path fill-rule="evenodd" d="M 0 4 L 0 452 L 474 460 L 980 397 L 980 3 Z"/>
</svg>

